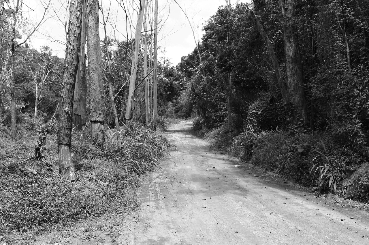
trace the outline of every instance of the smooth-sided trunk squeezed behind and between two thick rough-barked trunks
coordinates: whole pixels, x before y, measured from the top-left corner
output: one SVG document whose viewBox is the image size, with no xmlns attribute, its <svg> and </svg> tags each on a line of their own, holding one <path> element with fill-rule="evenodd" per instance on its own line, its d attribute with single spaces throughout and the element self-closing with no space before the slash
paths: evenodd
<svg viewBox="0 0 369 245">
<path fill-rule="evenodd" d="M 81 43 L 79 51 L 79 64 L 76 76 L 76 84 L 73 97 L 73 123 L 77 129 L 82 129 L 82 98 L 81 98 L 81 80 L 83 76 L 83 66 L 85 65 L 85 43 L 86 43 L 86 1 L 82 0 L 81 16 Z"/>
</svg>

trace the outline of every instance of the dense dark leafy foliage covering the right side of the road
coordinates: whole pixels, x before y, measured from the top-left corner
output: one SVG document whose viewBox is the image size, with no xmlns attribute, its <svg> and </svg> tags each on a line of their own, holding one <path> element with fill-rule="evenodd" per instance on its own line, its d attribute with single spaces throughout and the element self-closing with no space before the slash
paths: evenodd
<svg viewBox="0 0 369 245">
<path fill-rule="evenodd" d="M 197 116 L 194 129 L 215 146 L 231 147 L 242 159 L 301 184 L 333 190 L 369 153 L 369 4 L 294 2 L 293 17 L 282 13 L 277 0 L 256 0 L 253 11 L 287 90 L 285 42 L 297 36 L 306 121 L 292 120 L 299 111 L 291 113 L 283 102 L 270 53 L 246 4 L 220 7 L 208 20 L 201 63 L 195 49 L 177 65 L 184 86 L 173 105 L 178 116 Z M 297 32 L 285 35 L 286 25 Z"/>
</svg>

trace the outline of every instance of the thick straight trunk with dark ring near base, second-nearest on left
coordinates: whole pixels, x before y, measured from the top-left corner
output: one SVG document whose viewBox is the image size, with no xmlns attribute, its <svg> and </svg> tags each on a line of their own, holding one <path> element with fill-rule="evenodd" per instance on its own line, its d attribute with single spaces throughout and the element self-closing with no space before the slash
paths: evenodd
<svg viewBox="0 0 369 245">
<path fill-rule="evenodd" d="M 104 85 L 99 35 L 99 2 L 87 0 L 91 141 L 104 144 Z"/>
</svg>

